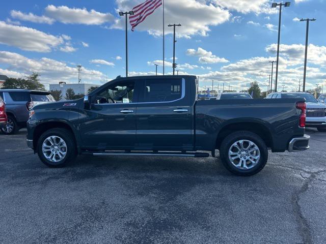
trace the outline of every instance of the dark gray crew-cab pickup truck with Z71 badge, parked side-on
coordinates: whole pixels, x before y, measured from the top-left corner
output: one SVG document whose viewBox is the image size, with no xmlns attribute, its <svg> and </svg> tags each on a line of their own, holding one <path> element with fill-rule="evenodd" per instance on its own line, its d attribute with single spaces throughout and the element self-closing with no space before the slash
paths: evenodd
<svg viewBox="0 0 326 244">
<path fill-rule="evenodd" d="M 258 173 L 268 149 L 308 149 L 302 99 L 197 100 L 196 76 L 112 80 L 84 99 L 37 105 L 28 146 L 49 167 L 78 154 L 220 158 L 238 175 Z M 210 154 L 209 154 L 210 152 Z"/>
</svg>

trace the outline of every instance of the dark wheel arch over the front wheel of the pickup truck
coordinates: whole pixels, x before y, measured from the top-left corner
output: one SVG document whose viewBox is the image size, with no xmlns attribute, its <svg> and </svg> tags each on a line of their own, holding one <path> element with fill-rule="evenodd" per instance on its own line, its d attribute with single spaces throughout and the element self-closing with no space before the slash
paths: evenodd
<svg viewBox="0 0 326 244">
<path fill-rule="evenodd" d="M 63 121 L 47 121 L 44 122 L 42 124 L 39 124 L 33 133 L 33 146 L 34 146 L 34 150 L 36 150 L 37 147 L 37 141 L 40 138 L 40 136 L 42 135 L 42 133 L 44 133 L 47 130 L 50 129 L 54 129 L 54 128 L 64 128 L 67 129 L 69 131 L 71 131 L 72 135 L 74 136 L 74 141 L 75 144 L 77 145 L 77 150 L 79 152 L 79 143 L 78 140 L 76 138 L 76 133 L 75 131 L 72 129 L 72 127 L 70 125 L 68 125 L 67 123 L 63 122 Z"/>
</svg>

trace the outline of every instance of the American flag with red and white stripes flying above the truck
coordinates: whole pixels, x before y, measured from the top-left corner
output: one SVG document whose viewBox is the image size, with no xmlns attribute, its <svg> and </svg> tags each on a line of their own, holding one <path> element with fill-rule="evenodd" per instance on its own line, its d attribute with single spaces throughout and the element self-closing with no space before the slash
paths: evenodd
<svg viewBox="0 0 326 244">
<path fill-rule="evenodd" d="M 155 9 L 161 5 L 162 0 L 147 0 L 144 3 L 134 7 L 132 9 L 134 14 L 129 16 L 131 31 L 133 31 L 138 24 L 143 22 L 148 15 L 152 14 Z"/>
</svg>

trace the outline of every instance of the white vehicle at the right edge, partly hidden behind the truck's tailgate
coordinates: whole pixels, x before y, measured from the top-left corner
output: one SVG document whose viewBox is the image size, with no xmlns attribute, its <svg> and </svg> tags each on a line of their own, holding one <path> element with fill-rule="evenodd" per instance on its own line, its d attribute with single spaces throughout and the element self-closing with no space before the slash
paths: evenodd
<svg viewBox="0 0 326 244">
<path fill-rule="evenodd" d="M 305 98 L 306 99 L 306 127 L 317 128 L 326 132 L 326 104 L 319 103 L 310 93 L 271 93 L 266 98 Z"/>
</svg>

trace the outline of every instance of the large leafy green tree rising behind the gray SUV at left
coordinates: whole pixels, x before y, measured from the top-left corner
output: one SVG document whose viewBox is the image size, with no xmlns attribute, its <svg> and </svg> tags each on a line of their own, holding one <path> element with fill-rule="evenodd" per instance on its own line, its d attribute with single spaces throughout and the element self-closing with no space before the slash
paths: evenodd
<svg viewBox="0 0 326 244">
<path fill-rule="evenodd" d="M 32 73 L 22 78 L 9 78 L 4 82 L 3 89 L 28 89 L 44 90 L 44 85 L 39 82 L 39 73 Z"/>
</svg>

